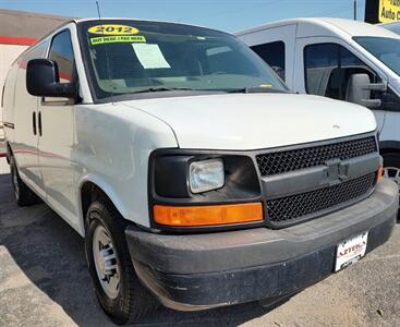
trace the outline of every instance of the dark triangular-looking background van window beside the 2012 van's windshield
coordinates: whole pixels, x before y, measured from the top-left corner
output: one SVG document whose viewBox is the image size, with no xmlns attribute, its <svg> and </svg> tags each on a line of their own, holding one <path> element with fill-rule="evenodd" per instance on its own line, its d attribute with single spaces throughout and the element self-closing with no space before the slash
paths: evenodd
<svg viewBox="0 0 400 327">
<path fill-rule="evenodd" d="M 258 46 L 251 49 L 256 52 L 271 69 L 284 81 L 284 43 L 275 41 Z"/>
</svg>

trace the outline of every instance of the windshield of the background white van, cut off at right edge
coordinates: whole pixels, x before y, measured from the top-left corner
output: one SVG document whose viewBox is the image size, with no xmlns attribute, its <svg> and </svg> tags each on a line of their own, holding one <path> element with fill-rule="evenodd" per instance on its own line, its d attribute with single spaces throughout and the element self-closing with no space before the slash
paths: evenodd
<svg viewBox="0 0 400 327">
<path fill-rule="evenodd" d="M 353 39 L 400 75 L 400 39 L 373 36 L 359 36 Z"/>
</svg>

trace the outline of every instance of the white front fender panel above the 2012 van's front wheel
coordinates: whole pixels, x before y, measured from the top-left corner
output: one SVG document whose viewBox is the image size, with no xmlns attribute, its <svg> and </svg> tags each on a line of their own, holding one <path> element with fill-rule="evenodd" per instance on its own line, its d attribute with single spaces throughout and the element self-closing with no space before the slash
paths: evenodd
<svg viewBox="0 0 400 327">
<path fill-rule="evenodd" d="M 75 130 L 72 158 L 80 206 L 81 187 L 90 181 L 124 219 L 149 227 L 148 157 L 156 148 L 178 146 L 171 128 L 141 110 L 105 104 L 77 106 Z"/>
</svg>

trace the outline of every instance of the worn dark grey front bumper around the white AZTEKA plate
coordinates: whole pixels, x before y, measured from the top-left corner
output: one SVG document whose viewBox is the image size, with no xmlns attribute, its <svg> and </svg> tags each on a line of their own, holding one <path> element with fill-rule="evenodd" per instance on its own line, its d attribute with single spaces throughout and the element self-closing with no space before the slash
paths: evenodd
<svg viewBox="0 0 400 327">
<path fill-rule="evenodd" d="M 304 289 L 332 274 L 338 243 L 363 231 L 371 252 L 391 234 L 398 196 L 384 179 L 368 198 L 281 230 L 166 235 L 129 227 L 125 234 L 138 278 L 163 305 L 203 310 Z"/>
</svg>

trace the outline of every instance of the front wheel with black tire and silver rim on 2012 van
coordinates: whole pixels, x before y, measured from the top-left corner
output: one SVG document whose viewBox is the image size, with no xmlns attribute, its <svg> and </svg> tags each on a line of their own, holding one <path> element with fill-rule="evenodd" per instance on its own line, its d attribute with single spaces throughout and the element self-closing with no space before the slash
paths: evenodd
<svg viewBox="0 0 400 327">
<path fill-rule="evenodd" d="M 125 227 L 110 201 L 95 201 L 89 206 L 85 237 L 88 269 L 102 310 L 119 325 L 137 323 L 158 306 L 134 271 Z"/>
</svg>

